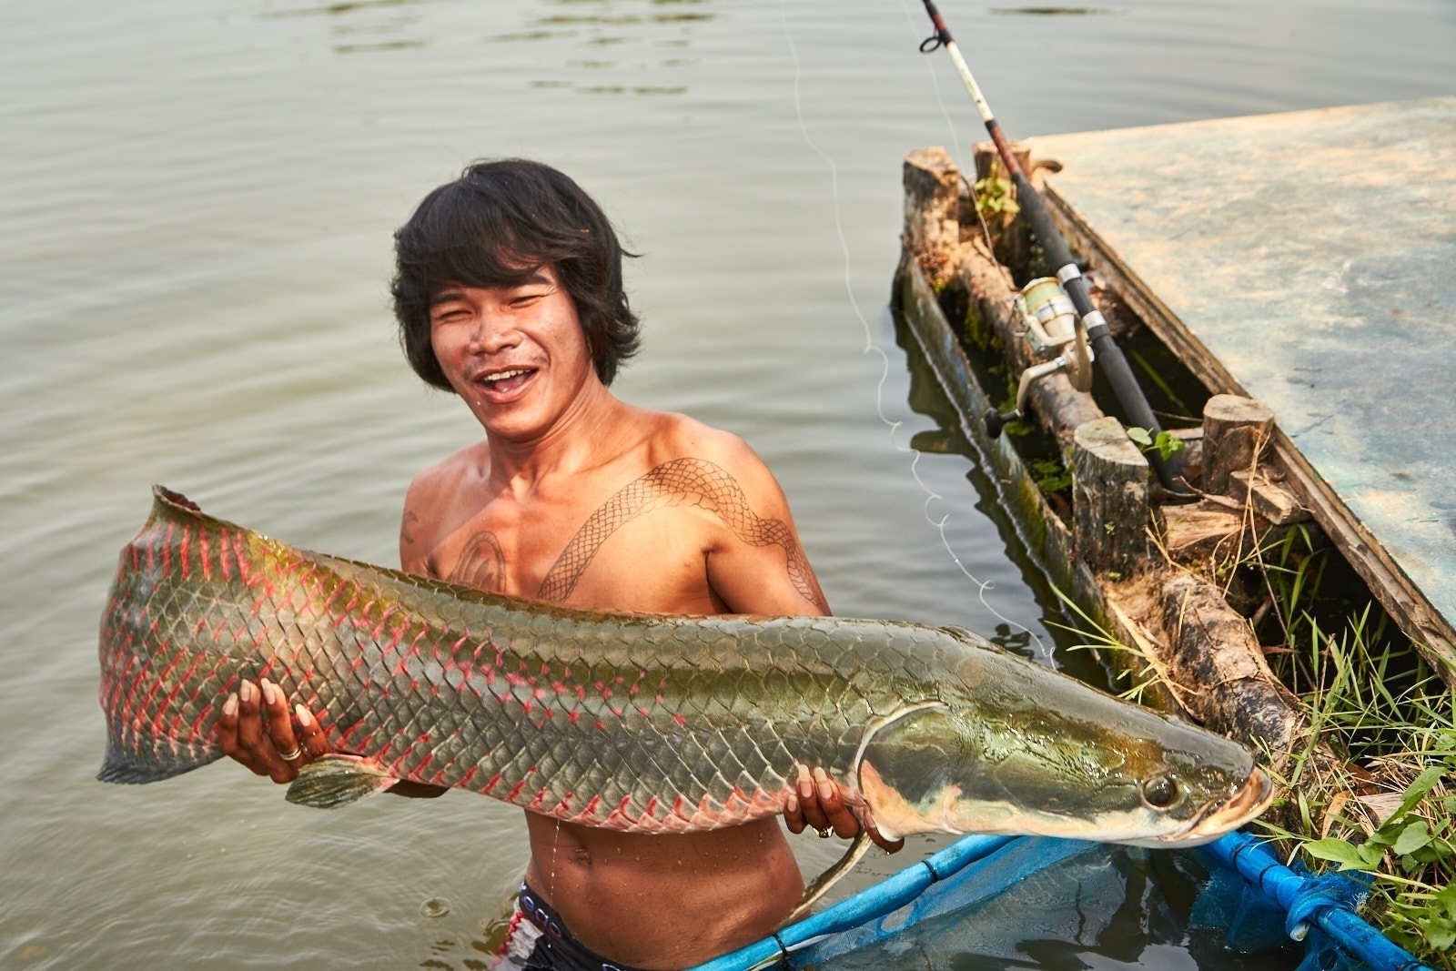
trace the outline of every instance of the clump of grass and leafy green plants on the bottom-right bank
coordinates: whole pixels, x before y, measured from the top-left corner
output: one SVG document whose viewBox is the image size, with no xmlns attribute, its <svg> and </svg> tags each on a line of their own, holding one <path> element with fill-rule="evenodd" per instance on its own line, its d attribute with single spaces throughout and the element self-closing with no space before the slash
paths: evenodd
<svg viewBox="0 0 1456 971">
<path fill-rule="evenodd" d="M 1372 638 L 1369 617 L 1338 636 L 1302 619 L 1310 729 L 1280 780 L 1280 823 L 1259 825 L 1316 865 L 1370 873 L 1367 919 L 1456 971 L 1456 694 L 1412 645 Z"/>
</svg>

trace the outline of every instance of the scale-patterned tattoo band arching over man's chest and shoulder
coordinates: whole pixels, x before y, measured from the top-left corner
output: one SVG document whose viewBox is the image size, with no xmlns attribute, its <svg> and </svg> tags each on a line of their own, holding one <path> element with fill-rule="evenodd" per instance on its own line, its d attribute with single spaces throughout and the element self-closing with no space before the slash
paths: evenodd
<svg viewBox="0 0 1456 971">
<path fill-rule="evenodd" d="M 814 590 L 810 563 L 794 533 L 782 520 L 763 520 L 748 508 L 748 496 L 722 467 L 702 459 L 674 459 L 628 483 L 593 512 L 566 543 L 542 581 L 537 597 L 561 603 L 571 595 L 591 558 L 607 537 L 644 512 L 678 505 L 708 510 L 750 546 L 779 546 L 788 559 L 789 579 L 799 594 L 826 610 Z"/>
</svg>

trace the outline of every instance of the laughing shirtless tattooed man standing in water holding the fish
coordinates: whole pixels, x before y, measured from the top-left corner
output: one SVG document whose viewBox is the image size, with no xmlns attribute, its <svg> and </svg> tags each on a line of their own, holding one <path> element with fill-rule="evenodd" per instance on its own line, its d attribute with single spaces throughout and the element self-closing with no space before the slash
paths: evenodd
<svg viewBox="0 0 1456 971">
<path fill-rule="evenodd" d="M 616 233 L 571 179 L 531 162 L 475 165 L 425 198 L 396 256 L 411 365 L 485 428 L 411 483 L 406 571 L 596 610 L 828 613 L 763 461 L 735 435 L 607 390 L 638 322 Z M 317 721 L 303 706 L 290 718 L 266 681 L 229 699 L 218 734 L 275 782 L 329 751 Z M 801 770 L 798 795 L 791 831 L 859 833 L 821 772 Z M 667 836 L 531 812 L 526 824 L 517 967 L 699 964 L 766 936 L 804 892 L 776 820 Z"/>
</svg>

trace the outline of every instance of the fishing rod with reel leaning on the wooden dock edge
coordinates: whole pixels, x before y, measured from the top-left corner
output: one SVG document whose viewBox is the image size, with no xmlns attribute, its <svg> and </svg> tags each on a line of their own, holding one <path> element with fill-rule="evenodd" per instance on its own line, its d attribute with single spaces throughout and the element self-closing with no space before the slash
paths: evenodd
<svg viewBox="0 0 1456 971">
<path fill-rule="evenodd" d="M 1009 415 L 999 415 L 994 411 L 986 412 L 986 428 L 994 438 L 1000 434 L 1002 425 L 1019 415 L 1021 409 L 1025 406 L 1026 400 L 1026 386 L 1031 380 L 1041 377 L 1054 370 L 1067 370 L 1075 379 L 1080 379 L 1082 374 L 1089 374 L 1089 362 L 1096 360 L 1098 365 L 1102 368 L 1102 374 L 1107 376 L 1108 383 L 1112 386 L 1112 392 L 1117 395 L 1118 403 L 1127 413 L 1127 418 L 1134 425 L 1147 428 L 1149 432 L 1156 437 L 1162 431 L 1158 424 L 1158 418 L 1153 415 L 1153 409 L 1147 405 L 1147 399 L 1143 396 L 1143 389 L 1137 386 L 1137 379 L 1133 377 L 1133 368 L 1127 365 L 1127 358 L 1123 357 L 1123 349 L 1117 346 L 1112 341 L 1112 332 L 1107 326 L 1107 319 L 1102 316 L 1095 306 L 1092 306 L 1092 298 L 1088 296 L 1086 280 L 1082 277 L 1082 271 L 1077 268 L 1076 262 L 1072 259 L 1072 250 L 1067 247 L 1067 242 L 1061 237 L 1057 230 L 1056 223 L 1051 221 L 1051 213 L 1047 211 L 1047 204 L 1041 201 L 1041 195 L 1031 186 L 1031 181 L 1021 170 L 1021 165 L 1016 163 L 1016 156 L 1010 150 L 1010 143 L 1006 141 L 1006 135 L 1002 134 L 1000 125 L 996 122 L 996 116 L 992 114 L 990 105 L 986 103 L 986 96 L 981 95 L 980 86 L 971 76 L 971 68 L 965 66 L 965 58 L 961 57 L 961 49 L 955 45 L 951 38 L 951 32 L 945 26 L 945 20 L 941 19 L 941 12 L 935 9 L 932 0 L 923 0 L 925 12 L 930 15 L 930 23 L 935 25 L 935 33 L 927 36 L 920 42 L 920 52 L 930 54 L 939 48 L 945 48 L 945 52 L 951 55 L 951 61 L 955 64 L 957 73 L 961 76 L 961 82 L 965 83 L 965 90 L 970 92 L 971 100 L 976 102 L 976 111 L 980 112 L 981 121 L 986 122 L 986 131 L 990 132 L 992 141 L 996 143 L 996 151 L 1000 156 L 1002 166 L 1010 176 L 1012 183 L 1016 186 L 1016 201 L 1021 204 L 1021 211 L 1026 215 L 1026 221 L 1031 223 L 1031 231 L 1035 233 L 1037 240 L 1041 243 L 1042 250 L 1047 253 L 1047 262 L 1056 269 L 1057 280 L 1061 284 L 1061 290 L 1072 300 L 1072 310 L 1075 310 L 1077 317 L 1077 330 L 1072 335 L 1067 333 L 1051 333 L 1045 335 L 1051 338 L 1050 344 L 1047 341 L 1035 341 L 1038 349 L 1041 346 L 1060 345 L 1069 346 L 1082 342 L 1083 333 L 1086 341 L 1092 345 L 1092 354 L 1086 354 L 1086 348 L 1070 346 L 1064 351 L 1056 361 L 1048 364 L 1038 364 L 1034 368 L 1028 368 L 1021 387 L 1016 395 L 1016 411 Z M 1048 281 L 1050 282 L 1050 281 Z M 1054 320 L 1056 317 L 1064 316 L 1060 313 L 1061 307 L 1057 307 L 1057 298 L 1060 294 L 1045 297 L 1037 303 L 1032 303 L 1032 294 L 1026 294 L 1025 301 L 1018 300 L 1018 312 L 1021 312 L 1022 319 L 1028 325 L 1037 317 Z M 1028 313 L 1026 303 L 1031 303 L 1031 312 Z M 1041 328 L 1028 326 L 1032 336 L 1042 336 L 1038 333 Z M 1050 328 L 1048 328 L 1050 329 Z M 1085 384 L 1077 390 L 1088 390 L 1091 387 L 1089 380 L 1076 380 L 1077 384 Z M 1163 459 L 1156 450 L 1147 453 L 1149 461 L 1158 472 L 1159 482 L 1163 488 L 1176 495 L 1188 495 L 1188 483 L 1182 477 L 1182 466 L 1176 457 Z"/>
</svg>

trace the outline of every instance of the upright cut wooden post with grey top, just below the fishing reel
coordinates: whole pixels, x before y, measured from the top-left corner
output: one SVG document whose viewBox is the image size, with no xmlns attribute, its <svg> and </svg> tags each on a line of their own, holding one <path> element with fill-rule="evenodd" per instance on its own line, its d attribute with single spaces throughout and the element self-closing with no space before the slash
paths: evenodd
<svg viewBox="0 0 1456 971">
<path fill-rule="evenodd" d="M 1072 450 L 1077 556 L 1098 574 L 1147 565 L 1147 460 L 1115 418 L 1079 425 Z"/>
</svg>

